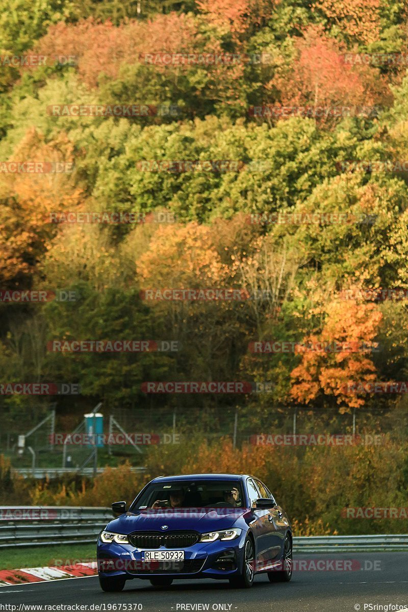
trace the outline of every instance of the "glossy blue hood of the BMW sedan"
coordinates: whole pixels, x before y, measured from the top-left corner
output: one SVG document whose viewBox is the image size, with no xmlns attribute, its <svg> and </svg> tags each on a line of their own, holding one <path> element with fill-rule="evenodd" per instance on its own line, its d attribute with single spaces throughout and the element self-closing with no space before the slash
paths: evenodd
<svg viewBox="0 0 408 612">
<path fill-rule="evenodd" d="M 247 512 L 246 508 L 146 509 L 122 514 L 111 521 L 107 529 L 122 534 L 130 534 L 132 531 L 164 533 L 175 529 L 193 529 L 206 533 L 214 529 L 229 529 Z M 168 529 L 162 530 L 163 525 L 167 525 Z"/>
</svg>

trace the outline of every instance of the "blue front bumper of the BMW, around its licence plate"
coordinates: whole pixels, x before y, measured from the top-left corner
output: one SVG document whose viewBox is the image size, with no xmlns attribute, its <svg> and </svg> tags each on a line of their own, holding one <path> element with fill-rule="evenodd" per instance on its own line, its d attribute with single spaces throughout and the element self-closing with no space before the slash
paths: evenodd
<svg viewBox="0 0 408 612">
<path fill-rule="evenodd" d="M 152 576 L 176 578 L 215 578 L 226 580 L 240 573 L 243 565 L 245 532 L 236 540 L 197 542 L 184 548 L 184 561 L 142 561 L 142 549 L 130 544 L 105 544 L 98 540 L 98 573 L 103 576 L 122 576 L 149 579 Z M 157 550 L 169 550 L 161 547 Z"/>
</svg>

